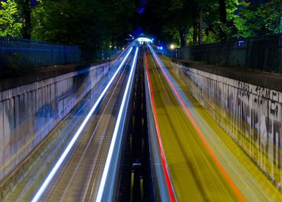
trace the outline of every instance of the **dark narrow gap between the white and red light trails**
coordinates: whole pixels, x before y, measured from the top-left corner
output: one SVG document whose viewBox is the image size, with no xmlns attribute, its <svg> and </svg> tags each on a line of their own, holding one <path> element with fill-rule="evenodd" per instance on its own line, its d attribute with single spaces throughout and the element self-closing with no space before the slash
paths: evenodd
<svg viewBox="0 0 282 202">
<path fill-rule="evenodd" d="M 137 61 L 133 102 L 123 151 L 118 201 L 156 201 L 149 160 L 143 50 Z"/>
</svg>

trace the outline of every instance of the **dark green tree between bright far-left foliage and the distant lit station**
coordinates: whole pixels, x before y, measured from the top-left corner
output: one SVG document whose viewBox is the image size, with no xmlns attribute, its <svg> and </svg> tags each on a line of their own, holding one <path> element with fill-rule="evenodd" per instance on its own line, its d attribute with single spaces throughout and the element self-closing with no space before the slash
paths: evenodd
<svg viewBox="0 0 282 202">
<path fill-rule="evenodd" d="M 32 11 L 32 38 L 79 44 L 94 56 L 109 41 L 130 32 L 130 0 L 45 0 Z"/>
</svg>

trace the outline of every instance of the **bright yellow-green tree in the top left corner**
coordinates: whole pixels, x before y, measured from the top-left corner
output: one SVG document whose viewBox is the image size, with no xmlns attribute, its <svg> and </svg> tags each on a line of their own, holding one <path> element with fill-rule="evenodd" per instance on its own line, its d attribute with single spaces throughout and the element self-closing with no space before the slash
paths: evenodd
<svg viewBox="0 0 282 202">
<path fill-rule="evenodd" d="M 14 0 L 1 1 L 0 36 L 21 37 L 22 23 L 18 4 Z"/>
</svg>

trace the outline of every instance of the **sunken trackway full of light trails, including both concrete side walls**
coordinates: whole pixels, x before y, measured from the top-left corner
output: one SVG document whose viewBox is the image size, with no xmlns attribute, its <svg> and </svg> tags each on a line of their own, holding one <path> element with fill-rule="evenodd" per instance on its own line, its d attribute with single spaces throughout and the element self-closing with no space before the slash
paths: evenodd
<svg viewBox="0 0 282 202">
<path fill-rule="evenodd" d="M 34 95 L 47 97 L 35 105 L 42 113 L 14 127 L 11 119 L 25 110 L 7 113 L 13 105 L 32 111 L 16 100 L 27 96 L 32 105 L 33 95 L 14 98 L 24 87 L 2 93 L 3 201 L 281 200 L 278 141 L 262 131 L 264 143 L 257 144 L 260 129 L 240 131 L 247 118 L 218 93 L 228 78 L 175 64 L 137 40 L 111 64 L 76 73 L 75 82 L 62 75 L 33 84 L 46 89 Z M 238 92 L 247 97 L 247 90 Z"/>
</svg>

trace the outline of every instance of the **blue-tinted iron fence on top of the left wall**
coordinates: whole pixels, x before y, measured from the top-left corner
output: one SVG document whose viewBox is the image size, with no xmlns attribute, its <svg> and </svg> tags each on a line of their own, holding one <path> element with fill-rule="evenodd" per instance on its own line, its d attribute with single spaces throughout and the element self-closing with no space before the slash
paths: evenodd
<svg viewBox="0 0 282 202">
<path fill-rule="evenodd" d="M 0 37 L 0 72 L 11 67 L 31 68 L 81 61 L 78 46 Z"/>
</svg>

